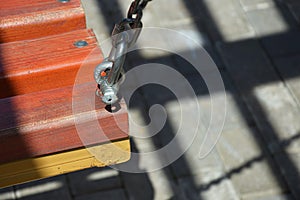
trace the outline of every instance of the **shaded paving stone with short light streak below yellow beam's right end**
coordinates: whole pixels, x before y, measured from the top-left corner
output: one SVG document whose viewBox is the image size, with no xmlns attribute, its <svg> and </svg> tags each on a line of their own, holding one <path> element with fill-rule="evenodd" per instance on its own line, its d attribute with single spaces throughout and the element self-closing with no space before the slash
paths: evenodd
<svg viewBox="0 0 300 200">
<path fill-rule="evenodd" d="M 121 187 L 118 171 L 111 168 L 91 168 L 68 174 L 73 195 L 83 195 Z"/>
</svg>

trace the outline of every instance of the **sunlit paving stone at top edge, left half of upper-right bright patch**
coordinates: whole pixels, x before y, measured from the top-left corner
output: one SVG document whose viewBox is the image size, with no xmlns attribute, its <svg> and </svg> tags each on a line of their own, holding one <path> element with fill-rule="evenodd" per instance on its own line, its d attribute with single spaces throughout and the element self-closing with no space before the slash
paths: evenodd
<svg viewBox="0 0 300 200">
<path fill-rule="evenodd" d="M 204 3 L 216 24 L 215 31 L 220 32 L 223 41 L 232 42 L 255 36 L 238 0 L 205 0 Z"/>
</svg>

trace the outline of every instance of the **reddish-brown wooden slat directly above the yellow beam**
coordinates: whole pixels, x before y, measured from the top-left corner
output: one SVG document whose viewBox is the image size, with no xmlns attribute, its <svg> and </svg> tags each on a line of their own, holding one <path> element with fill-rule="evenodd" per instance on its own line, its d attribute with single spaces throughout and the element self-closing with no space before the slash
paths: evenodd
<svg viewBox="0 0 300 200">
<path fill-rule="evenodd" d="M 95 97 L 95 83 L 83 84 L 77 93 L 95 98 L 95 108 L 85 109 L 87 117 L 98 118 L 104 134 L 95 132 L 93 121 L 80 121 L 91 130 L 81 133 L 85 145 L 128 138 L 128 118 L 122 103 L 114 115 Z M 83 147 L 72 113 L 72 86 L 0 100 L 0 164 Z M 117 120 L 115 120 L 117 119 Z M 117 123 L 116 123 L 117 121 Z"/>
</svg>

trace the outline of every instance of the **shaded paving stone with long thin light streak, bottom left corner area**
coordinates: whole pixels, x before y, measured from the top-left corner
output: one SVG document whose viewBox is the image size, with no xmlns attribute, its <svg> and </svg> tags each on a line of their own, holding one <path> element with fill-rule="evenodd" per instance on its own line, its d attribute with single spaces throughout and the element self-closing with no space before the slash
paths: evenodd
<svg viewBox="0 0 300 200">
<path fill-rule="evenodd" d="M 15 186 L 17 199 L 71 199 L 65 176 L 57 176 Z"/>
</svg>

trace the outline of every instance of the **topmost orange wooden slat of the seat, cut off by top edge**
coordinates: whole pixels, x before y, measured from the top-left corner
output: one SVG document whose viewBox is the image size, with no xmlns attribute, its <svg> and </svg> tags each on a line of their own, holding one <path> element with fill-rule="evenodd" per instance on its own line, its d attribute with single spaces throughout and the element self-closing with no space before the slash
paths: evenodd
<svg viewBox="0 0 300 200">
<path fill-rule="evenodd" d="M 0 43 L 86 28 L 80 0 L 10 0 L 0 4 Z"/>
</svg>

